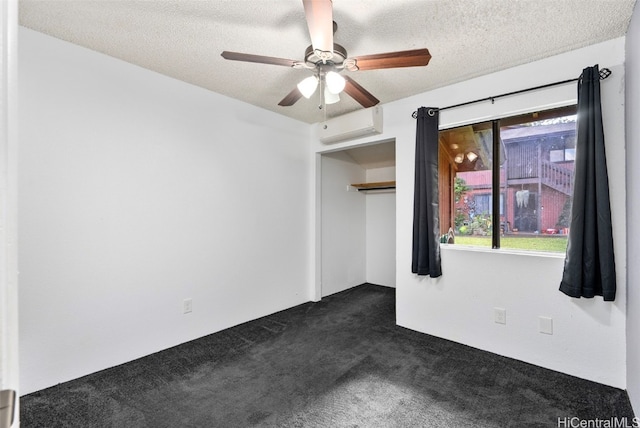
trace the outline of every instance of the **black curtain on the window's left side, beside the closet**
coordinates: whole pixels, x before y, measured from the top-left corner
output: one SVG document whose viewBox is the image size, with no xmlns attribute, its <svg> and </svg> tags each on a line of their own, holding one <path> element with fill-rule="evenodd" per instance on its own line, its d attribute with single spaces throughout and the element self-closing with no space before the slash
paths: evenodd
<svg viewBox="0 0 640 428">
<path fill-rule="evenodd" d="M 436 278 L 442 275 L 438 221 L 438 109 L 420 107 L 416 119 L 411 272 Z"/>
</svg>

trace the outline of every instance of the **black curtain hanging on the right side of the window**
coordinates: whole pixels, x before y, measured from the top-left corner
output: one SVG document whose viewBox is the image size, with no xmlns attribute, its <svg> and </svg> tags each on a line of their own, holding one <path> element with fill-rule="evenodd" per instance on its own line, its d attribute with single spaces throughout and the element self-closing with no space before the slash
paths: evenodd
<svg viewBox="0 0 640 428">
<path fill-rule="evenodd" d="M 571 297 L 616 297 L 616 271 L 598 66 L 578 81 L 578 137 L 571 226 L 560 291 Z"/>
</svg>

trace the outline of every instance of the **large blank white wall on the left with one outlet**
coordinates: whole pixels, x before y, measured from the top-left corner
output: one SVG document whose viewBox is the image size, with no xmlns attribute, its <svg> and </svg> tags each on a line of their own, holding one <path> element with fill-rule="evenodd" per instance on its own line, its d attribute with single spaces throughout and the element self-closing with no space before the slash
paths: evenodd
<svg viewBox="0 0 640 428">
<path fill-rule="evenodd" d="M 308 125 L 19 36 L 22 394 L 312 297 Z"/>
</svg>

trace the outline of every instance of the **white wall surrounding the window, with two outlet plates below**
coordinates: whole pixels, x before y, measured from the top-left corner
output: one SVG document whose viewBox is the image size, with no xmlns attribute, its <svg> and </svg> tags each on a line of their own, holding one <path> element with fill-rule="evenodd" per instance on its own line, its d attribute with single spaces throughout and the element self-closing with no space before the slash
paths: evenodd
<svg viewBox="0 0 640 428">
<path fill-rule="evenodd" d="M 443 248 L 443 276 L 411 273 L 415 120 L 420 106 L 448 106 L 541 84 L 576 78 L 599 63 L 613 75 L 602 82 L 607 161 L 612 191 L 618 295 L 572 299 L 558 291 L 563 259 L 507 251 Z M 620 388 L 626 387 L 626 239 L 624 152 L 624 39 L 572 51 L 384 106 L 384 133 L 396 138 L 396 316 L 399 325 L 539 366 Z M 428 78 L 428 68 L 425 71 Z M 443 112 L 442 127 L 575 102 L 575 84 Z M 332 145 L 340 149 L 372 139 Z M 314 152 L 327 150 L 314 141 Z M 493 308 L 507 324 L 493 322 Z M 550 316 L 554 334 L 538 332 Z"/>
</svg>

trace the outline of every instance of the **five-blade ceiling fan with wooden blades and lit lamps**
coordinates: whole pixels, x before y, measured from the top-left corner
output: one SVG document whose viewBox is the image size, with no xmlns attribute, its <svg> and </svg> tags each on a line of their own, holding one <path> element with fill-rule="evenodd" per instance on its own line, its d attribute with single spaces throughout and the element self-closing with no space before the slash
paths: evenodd
<svg viewBox="0 0 640 428">
<path fill-rule="evenodd" d="M 302 80 L 278 103 L 280 106 L 292 106 L 303 96 L 310 98 L 320 85 L 321 108 L 324 104 L 338 102 L 340 100 L 338 94 L 342 91 L 363 107 L 372 107 L 380 100 L 349 76 L 340 74 L 343 70 L 416 67 L 427 65 L 431 59 L 429 50 L 426 48 L 349 58 L 347 50 L 333 42 L 333 35 L 338 25 L 333 21 L 332 0 L 302 0 L 302 3 L 311 36 L 311 46 L 305 50 L 304 61 L 240 52 L 222 52 L 222 57 L 228 60 L 281 65 L 313 71 L 312 76 Z"/>
</svg>

